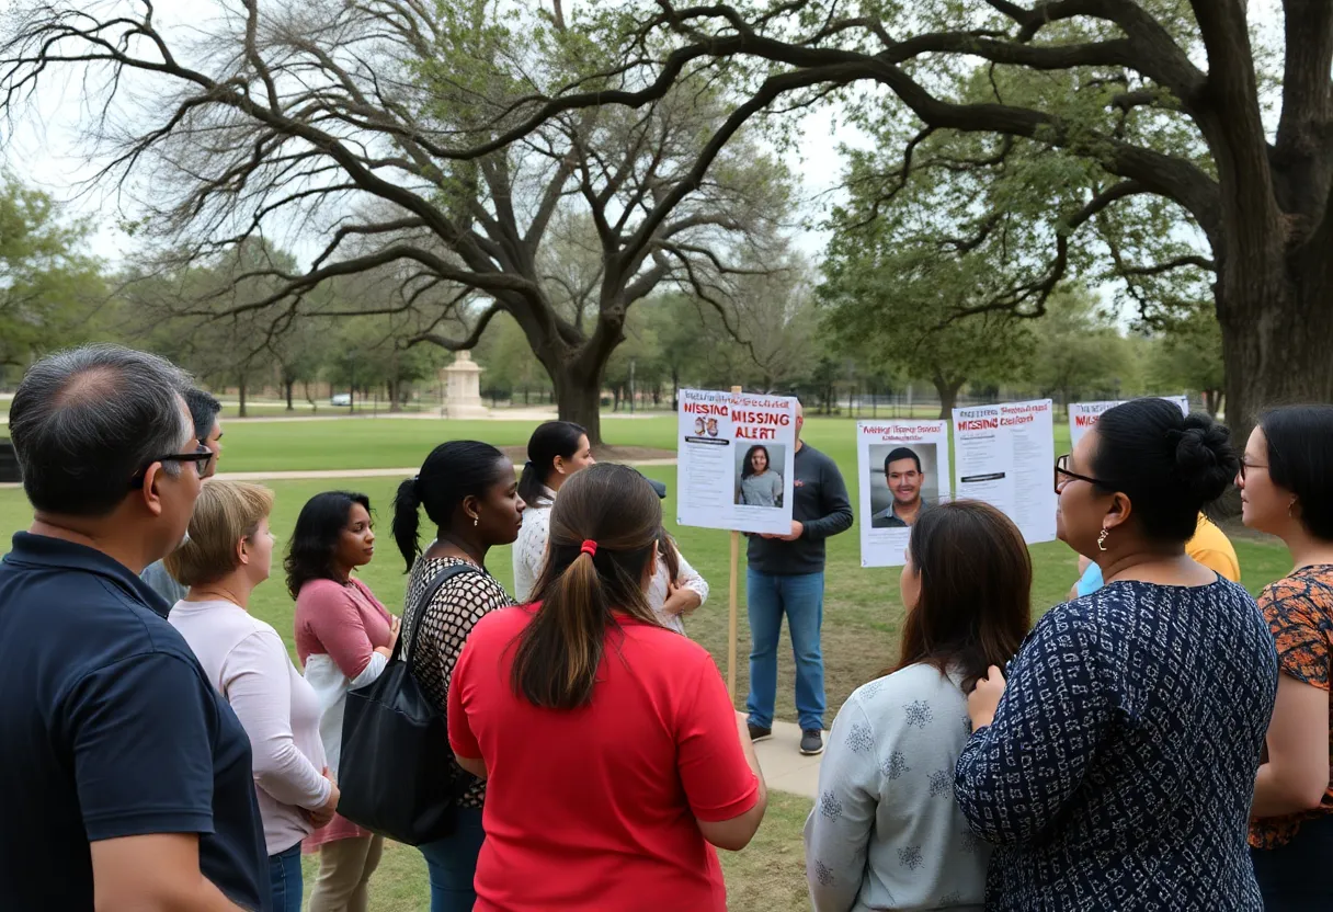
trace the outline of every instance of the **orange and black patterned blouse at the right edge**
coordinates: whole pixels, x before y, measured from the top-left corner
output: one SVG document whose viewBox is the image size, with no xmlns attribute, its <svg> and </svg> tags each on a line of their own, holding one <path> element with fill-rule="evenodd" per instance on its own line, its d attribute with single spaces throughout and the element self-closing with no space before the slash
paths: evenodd
<svg viewBox="0 0 1333 912">
<path fill-rule="evenodd" d="M 1273 583 L 1260 593 L 1258 607 L 1277 643 L 1278 671 L 1328 691 L 1333 660 L 1333 565 L 1302 567 Z M 1329 761 L 1333 763 L 1333 703 L 1329 704 Z M 1250 821 L 1250 845 L 1264 849 L 1285 845 L 1302 820 L 1326 813 L 1333 813 L 1333 783 L 1325 789 L 1318 808 Z"/>
</svg>

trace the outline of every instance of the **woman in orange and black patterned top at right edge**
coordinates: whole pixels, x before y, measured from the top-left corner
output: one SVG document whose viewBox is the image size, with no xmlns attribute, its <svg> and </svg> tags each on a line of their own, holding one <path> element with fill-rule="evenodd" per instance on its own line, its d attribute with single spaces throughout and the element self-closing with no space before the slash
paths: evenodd
<svg viewBox="0 0 1333 912">
<path fill-rule="evenodd" d="M 1281 675 L 1254 779 L 1250 856 L 1268 912 L 1333 909 L 1329 679 L 1333 660 L 1333 405 L 1260 419 L 1241 460 L 1245 525 L 1286 543 L 1296 564 L 1258 604 Z"/>
</svg>

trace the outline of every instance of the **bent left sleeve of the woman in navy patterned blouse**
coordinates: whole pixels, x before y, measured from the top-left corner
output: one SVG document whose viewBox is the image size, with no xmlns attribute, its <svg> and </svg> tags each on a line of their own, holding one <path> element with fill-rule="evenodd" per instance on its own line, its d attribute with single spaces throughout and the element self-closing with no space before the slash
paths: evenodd
<svg viewBox="0 0 1333 912">
<path fill-rule="evenodd" d="M 1113 683 L 1093 623 L 1070 605 L 1048 612 L 1010 664 L 992 723 L 954 768 L 972 831 L 994 844 L 1036 839 L 1082 785 L 1112 724 Z"/>
</svg>

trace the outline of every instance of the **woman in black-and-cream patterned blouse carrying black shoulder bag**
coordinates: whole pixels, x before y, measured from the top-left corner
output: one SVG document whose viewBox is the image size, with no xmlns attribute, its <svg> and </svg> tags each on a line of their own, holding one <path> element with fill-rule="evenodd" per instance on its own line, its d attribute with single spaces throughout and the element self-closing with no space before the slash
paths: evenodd
<svg viewBox="0 0 1333 912">
<path fill-rule="evenodd" d="M 421 552 L 420 511 L 436 525 L 435 541 Z M 491 444 L 472 440 L 440 444 L 421 472 L 399 485 L 393 500 L 393 539 L 412 576 L 403 601 L 403 635 L 417 637 L 412 673 L 445 712 L 449 680 L 472 627 L 488 612 L 513 600 L 487 572 L 487 552 L 512 544 L 523 525 L 524 503 L 513 463 Z M 449 567 L 471 572 L 447 580 L 419 611 L 431 581 Z M 472 879 L 481 851 L 481 805 L 485 783 L 464 772 L 445 751 L 440 775 L 460 779 L 457 828 L 452 836 L 421 845 L 431 872 L 431 912 L 472 909 Z M 464 785 L 467 783 L 467 785 Z"/>
</svg>

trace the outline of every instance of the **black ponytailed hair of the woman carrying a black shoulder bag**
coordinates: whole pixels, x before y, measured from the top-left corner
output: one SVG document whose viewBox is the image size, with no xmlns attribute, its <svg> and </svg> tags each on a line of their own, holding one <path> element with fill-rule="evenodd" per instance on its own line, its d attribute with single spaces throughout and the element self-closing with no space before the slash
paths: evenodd
<svg viewBox="0 0 1333 912">
<path fill-rule="evenodd" d="M 393 497 L 393 540 L 411 571 L 421 555 L 420 508 L 427 519 L 445 529 L 453 524 L 459 505 L 468 497 L 483 497 L 487 489 L 513 479 L 513 465 L 499 449 L 477 440 L 451 440 L 431 451 L 421 472 L 399 485 Z"/>
</svg>

